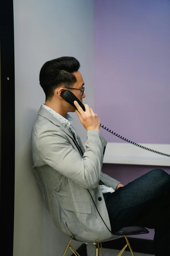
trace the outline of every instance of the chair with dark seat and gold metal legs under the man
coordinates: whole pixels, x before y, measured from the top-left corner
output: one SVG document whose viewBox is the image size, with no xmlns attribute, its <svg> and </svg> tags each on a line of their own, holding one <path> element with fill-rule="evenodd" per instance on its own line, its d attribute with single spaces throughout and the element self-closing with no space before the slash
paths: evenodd
<svg viewBox="0 0 170 256">
<path fill-rule="evenodd" d="M 149 233 L 149 230 L 147 230 L 146 228 L 137 227 L 137 226 L 125 227 L 125 228 L 122 228 L 122 229 L 118 230 L 117 232 L 113 233 L 114 235 L 122 235 L 122 236 L 124 236 L 124 238 L 125 238 L 125 240 L 126 240 L 126 242 L 127 242 L 126 245 L 121 249 L 121 251 L 118 253 L 117 256 L 120 256 L 120 255 L 123 253 L 123 251 L 126 249 L 127 246 L 129 246 L 129 249 L 130 249 L 132 255 L 135 256 L 134 253 L 133 253 L 133 251 L 132 251 L 132 248 L 131 248 L 131 246 L 130 246 L 130 244 L 129 244 L 129 241 L 128 241 L 126 235 L 139 235 L 139 234 L 147 234 L 147 233 Z M 110 237 L 110 238 L 105 239 L 105 240 L 100 241 L 100 242 L 97 242 L 97 241 L 96 241 L 95 243 L 92 242 L 92 244 L 93 244 L 94 247 L 95 247 L 95 254 L 94 254 L 94 256 L 100 256 L 100 248 L 101 248 L 101 252 L 102 252 L 102 256 L 103 256 L 102 242 L 110 241 L 110 240 L 113 240 L 113 239 L 115 239 L 115 237 L 114 237 L 114 238 L 113 238 L 113 237 Z M 69 240 L 69 242 L 68 242 L 68 244 L 67 244 L 67 246 L 66 246 L 66 248 L 65 248 L 65 251 L 64 251 L 63 256 L 65 255 L 65 253 L 66 253 L 68 247 L 72 250 L 72 252 L 73 252 L 76 256 L 80 256 L 80 255 L 78 254 L 78 252 L 70 245 L 71 240 L 76 240 L 76 241 L 78 241 L 78 240 L 75 239 L 74 237 L 71 237 L 70 240 Z M 78 242 L 80 242 L 80 241 L 78 241 Z M 85 242 L 85 241 L 84 241 L 84 243 L 89 243 L 89 242 Z M 99 243 L 100 243 L 100 247 L 99 247 Z"/>
</svg>

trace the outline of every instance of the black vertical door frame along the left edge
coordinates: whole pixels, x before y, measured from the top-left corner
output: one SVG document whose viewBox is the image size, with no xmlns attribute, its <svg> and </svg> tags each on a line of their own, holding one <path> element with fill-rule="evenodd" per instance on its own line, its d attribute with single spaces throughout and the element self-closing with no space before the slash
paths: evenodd
<svg viewBox="0 0 170 256">
<path fill-rule="evenodd" d="M 1 252 L 13 255 L 15 189 L 15 70 L 13 0 L 0 1 Z"/>
</svg>

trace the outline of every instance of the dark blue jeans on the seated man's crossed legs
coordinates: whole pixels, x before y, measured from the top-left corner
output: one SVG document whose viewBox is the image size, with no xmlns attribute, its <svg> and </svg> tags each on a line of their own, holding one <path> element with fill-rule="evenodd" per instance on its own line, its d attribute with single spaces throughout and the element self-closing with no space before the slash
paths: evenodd
<svg viewBox="0 0 170 256">
<path fill-rule="evenodd" d="M 170 175 L 154 169 L 113 193 L 103 194 L 111 231 L 155 229 L 155 256 L 170 255 Z"/>
</svg>

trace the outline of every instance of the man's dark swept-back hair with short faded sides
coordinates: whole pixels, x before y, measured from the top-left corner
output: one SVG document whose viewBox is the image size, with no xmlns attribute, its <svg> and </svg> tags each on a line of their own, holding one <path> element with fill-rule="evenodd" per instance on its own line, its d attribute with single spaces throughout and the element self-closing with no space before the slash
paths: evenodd
<svg viewBox="0 0 170 256">
<path fill-rule="evenodd" d="M 72 73 L 78 71 L 79 67 L 80 63 L 74 57 L 60 57 L 44 63 L 39 73 L 39 83 L 46 95 L 46 101 L 52 99 L 57 87 L 74 86 L 77 79 Z"/>
</svg>

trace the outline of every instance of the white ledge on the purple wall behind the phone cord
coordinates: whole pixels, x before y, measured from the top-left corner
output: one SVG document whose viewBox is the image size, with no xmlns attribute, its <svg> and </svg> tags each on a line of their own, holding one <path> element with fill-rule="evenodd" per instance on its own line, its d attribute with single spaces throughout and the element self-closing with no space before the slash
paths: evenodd
<svg viewBox="0 0 170 256">
<path fill-rule="evenodd" d="M 170 144 L 138 144 L 170 155 Z M 85 145 L 84 147 L 86 149 Z M 130 143 L 107 143 L 103 163 L 170 166 L 170 157 L 150 152 Z"/>
</svg>

